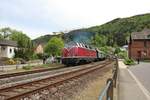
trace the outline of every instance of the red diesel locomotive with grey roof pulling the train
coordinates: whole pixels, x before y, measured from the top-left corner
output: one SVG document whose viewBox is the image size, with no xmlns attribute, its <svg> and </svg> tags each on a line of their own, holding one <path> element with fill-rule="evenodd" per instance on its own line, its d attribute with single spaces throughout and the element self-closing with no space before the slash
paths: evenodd
<svg viewBox="0 0 150 100">
<path fill-rule="evenodd" d="M 105 59 L 104 53 L 83 43 L 71 43 L 63 49 L 62 63 L 78 65 Z"/>
</svg>

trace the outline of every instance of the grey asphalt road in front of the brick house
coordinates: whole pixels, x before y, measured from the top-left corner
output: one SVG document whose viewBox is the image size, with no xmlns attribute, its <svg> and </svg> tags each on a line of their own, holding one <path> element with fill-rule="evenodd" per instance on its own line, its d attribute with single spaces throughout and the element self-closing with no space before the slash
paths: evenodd
<svg viewBox="0 0 150 100">
<path fill-rule="evenodd" d="M 150 62 L 140 62 L 140 64 L 129 67 L 129 70 L 150 92 Z"/>
</svg>

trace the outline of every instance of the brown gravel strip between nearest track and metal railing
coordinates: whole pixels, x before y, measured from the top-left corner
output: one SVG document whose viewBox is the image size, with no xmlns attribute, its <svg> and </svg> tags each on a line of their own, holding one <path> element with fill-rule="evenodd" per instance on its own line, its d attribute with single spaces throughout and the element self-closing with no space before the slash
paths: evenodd
<svg viewBox="0 0 150 100">
<path fill-rule="evenodd" d="M 96 70 L 80 78 L 64 82 L 57 87 L 52 87 L 45 90 L 47 91 L 45 94 L 38 95 L 37 100 L 98 100 L 107 78 L 112 75 L 111 69 L 112 67 L 105 68 L 102 71 Z M 35 98 L 32 97 L 32 99 Z"/>
</svg>

